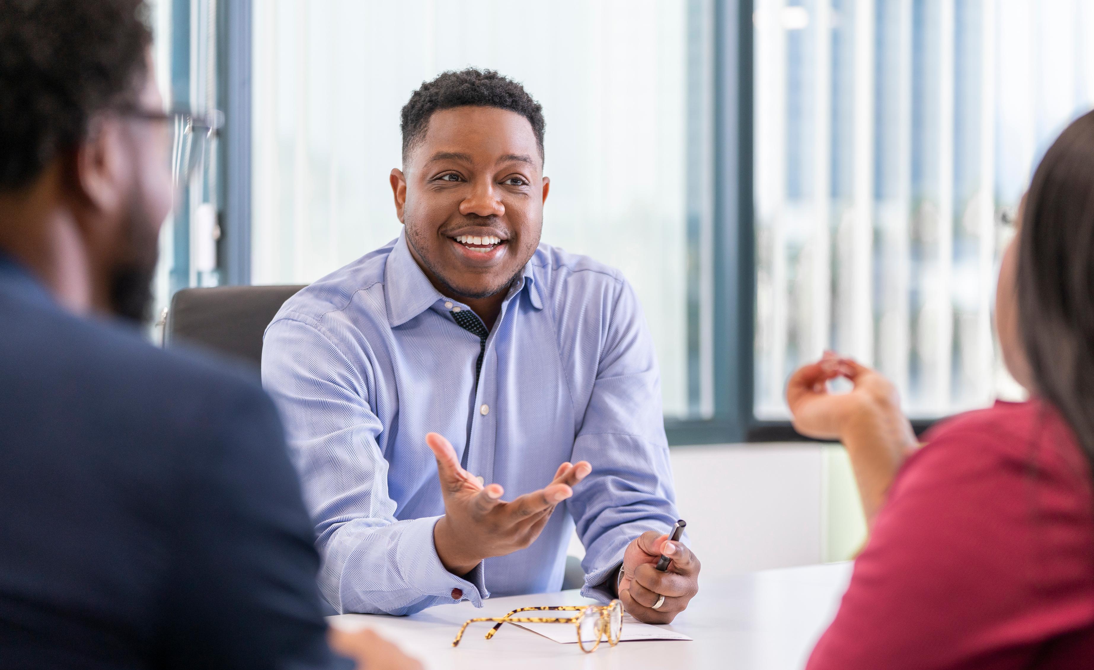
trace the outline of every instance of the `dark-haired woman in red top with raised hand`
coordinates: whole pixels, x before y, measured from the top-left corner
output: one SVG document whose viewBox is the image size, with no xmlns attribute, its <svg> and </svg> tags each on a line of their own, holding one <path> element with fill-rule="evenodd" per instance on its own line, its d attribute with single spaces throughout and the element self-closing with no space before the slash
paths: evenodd
<svg viewBox="0 0 1094 670">
<path fill-rule="evenodd" d="M 877 372 L 834 354 L 787 388 L 848 450 L 870 541 L 810 670 L 1094 668 L 1094 113 L 1056 140 L 1003 255 L 996 327 L 1029 391 L 922 446 Z M 838 377 L 854 388 L 830 394 Z"/>
</svg>

